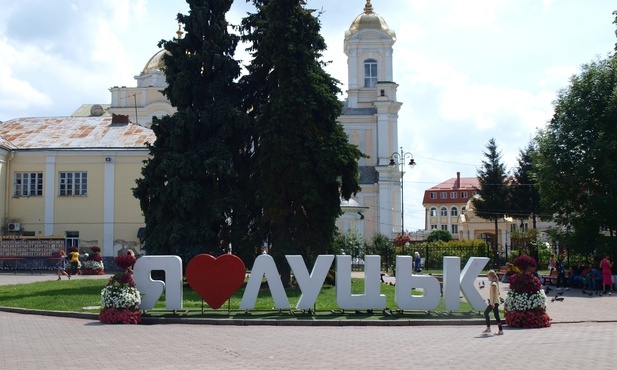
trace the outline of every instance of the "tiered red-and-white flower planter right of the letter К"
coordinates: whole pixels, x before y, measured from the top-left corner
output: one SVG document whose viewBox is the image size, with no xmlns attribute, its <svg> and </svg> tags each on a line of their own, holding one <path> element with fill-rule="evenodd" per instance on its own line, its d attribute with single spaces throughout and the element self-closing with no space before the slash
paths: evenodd
<svg viewBox="0 0 617 370">
<path fill-rule="evenodd" d="M 520 272 L 510 276 L 510 291 L 505 302 L 505 319 L 509 327 L 544 328 L 551 326 L 546 313 L 546 294 L 540 289 L 540 280 L 532 272 L 536 261 L 526 255 L 512 262 Z"/>
</svg>

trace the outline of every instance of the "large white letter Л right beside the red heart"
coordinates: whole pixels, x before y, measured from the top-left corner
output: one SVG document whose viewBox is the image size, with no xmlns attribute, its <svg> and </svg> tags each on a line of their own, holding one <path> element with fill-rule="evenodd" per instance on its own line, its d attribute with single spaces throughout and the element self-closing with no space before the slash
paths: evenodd
<svg viewBox="0 0 617 370">
<path fill-rule="evenodd" d="M 283 288 L 279 271 L 276 268 L 276 264 L 274 264 L 274 258 L 269 254 L 259 255 L 255 259 L 249 282 L 246 284 L 242 302 L 240 302 L 240 309 L 252 310 L 255 308 L 257 294 L 259 294 L 259 288 L 261 287 L 261 279 L 264 276 L 268 281 L 274 306 L 279 310 L 289 310 L 289 300 L 287 299 L 285 288 Z"/>
</svg>

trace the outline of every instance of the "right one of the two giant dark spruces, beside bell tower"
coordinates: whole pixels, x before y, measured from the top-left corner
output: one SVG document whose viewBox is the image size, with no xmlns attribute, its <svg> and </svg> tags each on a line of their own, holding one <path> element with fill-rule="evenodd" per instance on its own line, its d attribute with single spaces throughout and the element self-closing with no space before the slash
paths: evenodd
<svg viewBox="0 0 617 370">
<path fill-rule="evenodd" d="M 252 60 L 243 78 L 254 119 L 257 226 L 284 284 L 286 254 L 308 263 L 332 244 L 341 196 L 360 190 L 362 153 L 337 122 L 338 81 L 323 69 L 320 23 L 304 0 L 253 0 L 242 22 Z"/>
</svg>

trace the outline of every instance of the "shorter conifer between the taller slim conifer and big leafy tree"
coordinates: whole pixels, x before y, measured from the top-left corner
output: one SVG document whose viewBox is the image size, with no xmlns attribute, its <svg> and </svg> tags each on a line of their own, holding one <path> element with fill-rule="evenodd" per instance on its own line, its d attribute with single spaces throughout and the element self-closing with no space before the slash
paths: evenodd
<svg viewBox="0 0 617 370">
<path fill-rule="evenodd" d="M 533 142 L 519 152 L 518 166 L 514 171 L 514 179 L 510 188 L 510 202 L 514 216 L 521 221 L 531 218 L 533 228 L 537 226 L 537 216 L 541 213 L 540 192 L 536 186 L 533 174 L 532 158 L 535 152 Z"/>
</svg>

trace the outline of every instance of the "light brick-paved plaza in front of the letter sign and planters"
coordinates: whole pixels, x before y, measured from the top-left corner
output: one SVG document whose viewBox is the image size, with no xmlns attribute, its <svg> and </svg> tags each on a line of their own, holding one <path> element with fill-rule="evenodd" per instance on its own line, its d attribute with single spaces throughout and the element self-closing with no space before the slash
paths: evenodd
<svg viewBox="0 0 617 370">
<path fill-rule="evenodd" d="M 506 327 L 503 336 L 480 334 L 482 325 L 129 326 L 0 312 L 0 368 L 608 369 L 617 363 L 616 296 L 567 291 L 548 302 L 552 327 Z"/>
</svg>

